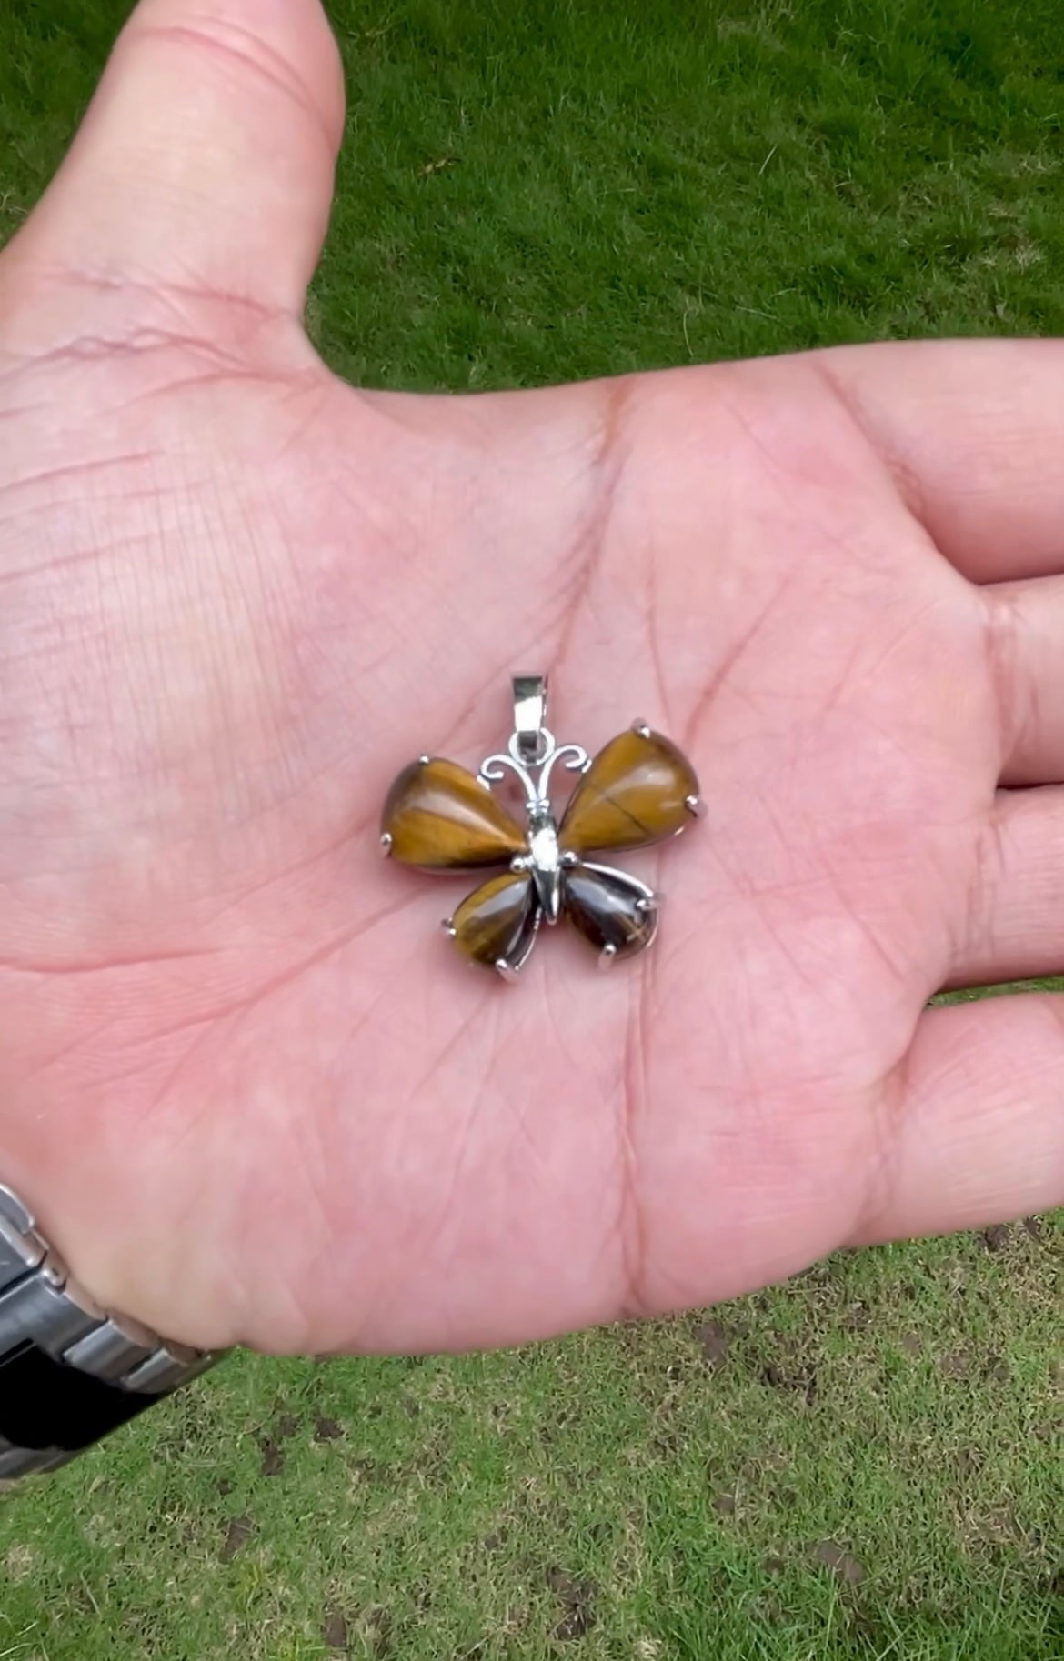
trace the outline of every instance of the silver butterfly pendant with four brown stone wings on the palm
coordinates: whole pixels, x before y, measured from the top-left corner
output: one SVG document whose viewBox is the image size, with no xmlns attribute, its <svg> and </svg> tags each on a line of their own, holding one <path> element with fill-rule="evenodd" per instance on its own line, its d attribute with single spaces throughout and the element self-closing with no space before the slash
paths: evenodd
<svg viewBox="0 0 1064 1661">
<path fill-rule="evenodd" d="M 567 917 L 602 967 L 643 952 L 657 933 L 658 897 L 637 877 L 587 855 L 648 847 L 677 835 L 705 809 L 692 764 L 637 721 L 592 757 L 555 744 L 545 728 L 547 681 L 514 679 L 514 734 L 479 774 L 419 756 L 394 781 L 381 816 L 381 849 L 419 870 L 504 867 L 474 889 L 444 928 L 470 963 L 514 980 L 542 924 Z M 555 821 L 555 762 L 580 781 Z M 515 774 L 525 792 L 522 827 L 492 792 Z"/>
</svg>

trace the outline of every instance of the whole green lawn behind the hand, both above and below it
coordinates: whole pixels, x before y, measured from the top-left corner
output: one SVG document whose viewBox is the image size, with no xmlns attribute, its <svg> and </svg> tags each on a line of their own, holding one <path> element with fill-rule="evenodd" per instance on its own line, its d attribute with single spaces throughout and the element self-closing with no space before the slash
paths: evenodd
<svg viewBox="0 0 1064 1661">
<path fill-rule="evenodd" d="M 125 13 L 0 7 L 0 238 Z M 334 0 L 372 385 L 1064 332 L 1059 0 Z M 1064 1222 L 653 1325 L 223 1369 L 0 1500 L 18 1661 L 1061 1661 Z"/>
</svg>

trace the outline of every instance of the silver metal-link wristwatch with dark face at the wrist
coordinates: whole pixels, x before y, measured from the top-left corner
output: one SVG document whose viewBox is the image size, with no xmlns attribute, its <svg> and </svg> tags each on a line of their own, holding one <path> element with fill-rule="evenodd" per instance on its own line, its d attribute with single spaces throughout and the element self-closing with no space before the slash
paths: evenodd
<svg viewBox="0 0 1064 1661">
<path fill-rule="evenodd" d="M 0 1478 L 65 1465 L 219 1359 L 98 1309 L 0 1184 Z"/>
</svg>

